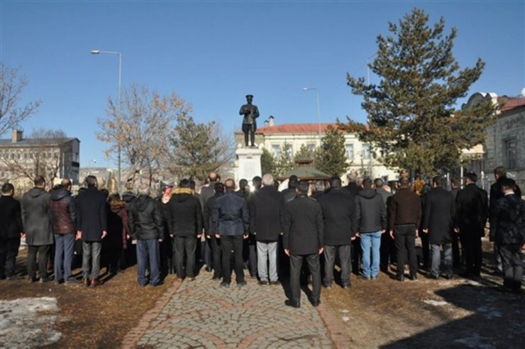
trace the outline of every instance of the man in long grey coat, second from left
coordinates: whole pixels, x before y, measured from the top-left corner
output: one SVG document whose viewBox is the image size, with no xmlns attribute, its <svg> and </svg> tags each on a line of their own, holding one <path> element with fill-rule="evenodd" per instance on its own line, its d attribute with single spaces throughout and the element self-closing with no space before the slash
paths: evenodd
<svg viewBox="0 0 525 349">
<path fill-rule="evenodd" d="M 48 260 L 53 244 L 53 234 L 49 221 L 50 194 L 45 191 L 45 179 L 35 177 L 35 187 L 22 197 L 22 222 L 28 244 L 28 277 L 35 282 L 35 263 L 38 253 L 38 274 L 40 282 L 48 279 Z"/>
</svg>

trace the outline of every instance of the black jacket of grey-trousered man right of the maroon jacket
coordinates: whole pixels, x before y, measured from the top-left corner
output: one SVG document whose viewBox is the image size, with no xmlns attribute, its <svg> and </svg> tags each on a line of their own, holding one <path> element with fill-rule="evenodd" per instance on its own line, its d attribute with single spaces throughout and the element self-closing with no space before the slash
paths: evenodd
<svg viewBox="0 0 525 349">
<path fill-rule="evenodd" d="M 106 197 L 96 187 L 88 187 L 77 198 L 77 229 L 83 241 L 100 241 L 107 231 Z"/>
</svg>

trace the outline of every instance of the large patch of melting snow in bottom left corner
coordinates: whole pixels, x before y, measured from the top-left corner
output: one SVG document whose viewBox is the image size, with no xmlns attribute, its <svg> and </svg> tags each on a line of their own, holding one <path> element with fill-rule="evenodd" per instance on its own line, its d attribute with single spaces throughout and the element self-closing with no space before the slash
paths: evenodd
<svg viewBox="0 0 525 349">
<path fill-rule="evenodd" d="M 54 297 L 0 300 L 0 347 L 36 348 L 60 340 L 55 330 L 60 309 Z"/>
</svg>

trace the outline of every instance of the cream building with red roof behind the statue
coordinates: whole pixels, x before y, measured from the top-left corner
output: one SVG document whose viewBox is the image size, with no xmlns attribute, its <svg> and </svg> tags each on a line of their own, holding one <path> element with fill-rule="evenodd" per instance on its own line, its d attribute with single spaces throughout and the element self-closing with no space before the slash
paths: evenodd
<svg viewBox="0 0 525 349">
<path fill-rule="evenodd" d="M 275 124 L 275 118 L 270 116 L 263 127 L 258 128 L 255 133 L 255 144 L 258 148 L 269 150 L 274 156 L 280 155 L 282 145 L 285 145 L 290 157 L 306 145 L 314 150 L 321 144 L 321 138 L 328 126 L 336 128 L 335 123 L 284 123 Z M 361 142 L 355 133 L 344 133 L 347 162 L 350 165 L 348 172 L 358 172 L 363 177 L 382 177 L 387 180 L 397 179 L 397 170 L 389 170 L 379 160 L 372 157 L 370 145 Z M 240 148 L 244 145 L 242 132 L 236 133 L 236 145 Z M 342 176 L 346 182 L 346 175 Z"/>
</svg>

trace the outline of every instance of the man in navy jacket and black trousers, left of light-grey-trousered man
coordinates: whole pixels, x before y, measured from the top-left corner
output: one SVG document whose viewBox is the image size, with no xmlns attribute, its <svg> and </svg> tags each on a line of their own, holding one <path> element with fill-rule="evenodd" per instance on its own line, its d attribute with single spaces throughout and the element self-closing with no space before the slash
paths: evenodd
<svg viewBox="0 0 525 349">
<path fill-rule="evenodd" d="M 232 250 L 237 286 L 243 287 L 246 285 L 243 271 L 243 240 L 248 238 L 250 231 L 250 214 L 245 199 L 233 192 L 233 179 L 226 179 L 224 187 L 226 194 L 216 199 L 211 213 L 211 233 L 215 233 L 215 237 L 221 239 L 221 287 L 230 287 Z"/>
</svg>

